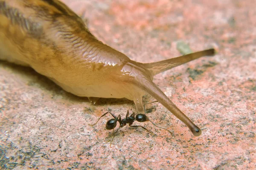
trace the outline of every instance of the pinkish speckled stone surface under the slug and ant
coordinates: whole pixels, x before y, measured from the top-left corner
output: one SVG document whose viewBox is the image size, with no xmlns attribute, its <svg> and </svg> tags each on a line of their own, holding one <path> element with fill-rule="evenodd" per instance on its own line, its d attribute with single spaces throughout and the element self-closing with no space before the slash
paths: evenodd
<svg viewBox="0 0 256 170">
<path fill-rule="evenodd" d="M 159 103 L 148 117 L 170 135 L 123 127 L 110 147 L 107 111 L 136 111 L 127 99 L 69 94 L 31 68 L 0 62 L 0 169 L 256 169 L 255 0 L 63 0 L 104 43 L 138 62 L 177 57 L 177 42 L 203 57 L 154 77 L 201 127 L 189 129 Z M 86 18 L 86 19 L 85 19 Z M 144 102 L 154 99 L 145 95 Z"/>
</svg>

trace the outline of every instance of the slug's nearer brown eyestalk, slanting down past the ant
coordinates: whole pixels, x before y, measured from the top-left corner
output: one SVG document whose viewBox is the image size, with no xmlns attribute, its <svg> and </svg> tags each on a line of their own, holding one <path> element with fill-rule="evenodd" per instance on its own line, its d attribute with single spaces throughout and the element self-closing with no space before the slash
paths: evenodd
<svg viewBox="0 0 256 170">
<path fill-rule="evenodd" d="M 182 111 L 180 111 L 180 109 L 177 108 L 177 106 L 160 90 L 160 88 L 157 87 L 157 85 L 154 84 L 154 82 L 145 77 L 140 77 L 137 79 L 135 84 L 157 99 L 158 102 L 165 106 L 178 119 L 184 122 L 194 136 L 201 135 L 201 129 L 197 127 Z"/>
</svg>

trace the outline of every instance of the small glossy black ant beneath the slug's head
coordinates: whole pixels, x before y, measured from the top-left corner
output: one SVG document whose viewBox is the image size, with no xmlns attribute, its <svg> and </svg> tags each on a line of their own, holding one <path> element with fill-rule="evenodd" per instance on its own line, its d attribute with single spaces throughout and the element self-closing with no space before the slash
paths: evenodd
<svg viewBox="0 0 256 170">
<path fill-rule="evenodd" d="M 154 101 L 154 102 L 157 102 L 157 101 Z M 150 102 L 150 103 L 154 103 L 154 102 Z M 144 104 L 144 111 L 145 111 L 145 105 L 150 104 L 150 103 L 145 103 L 145 104 Z M 130 127 L 142 127 L 143 129 L 147 130 L 149 133 L 152 133 L 152 132 L 150 132 L 148 129 L 146 129 L 146 128 L 143 127 L 143 126 L 140 126 L 140 125 L 132 125 L 133 122 L 135 122 L 135 121 L 137 121 L 137 122 L 146 122 L 146 121 L 150 121 L 154 126 L 159 127 L 159 126 L 155 125 L 150 119 L 148 119 L 148 116 L 146 116 L 145 114 L 137 114 L 136 117 L 135 117 L 135 113 L 133 112 L 133 113 L 131 114 L 131 116 L 129 116 L 129 110 L 127 110 L 125 119 L 121 119 L 120 114 L 116 117 L 116 116 L 115 116 L 113 113 L 111 113 L 111 112 L 106 112 L 106 113 L 104 113 L 102 116 L 100 116 L 99 119 L 101 119 L 103 116 L 105 116 L 105 115 L 108 114 L 108 113 L 110 113 L 110 114 L 113 116 L 113 118 L 114 118 L 114 119 L 108 120 L 108 122 L 106 123 L 106 129 L 107 129 L 107 130 L 112 130 L 112 129 L 113 129 L 113 133 L 112 133 L 113 138 L 112 138 L 112 140 L 111 140 L 111 142 L 110 142 L 110 145 L 111 145 L 111 143 L 113 142 L 113 139 L 114 139 L 114 129 L 115 129 L 115 127 L 116 127 L 117 122 L 119 122 L 119 125 L 120 125 L 119 128 L 120 128 L 120 127 L 124 127 L 125 125 L 128 124 Z M 90 126 L 96 125 L 96 124 L 99 122 L 99 119 L 98 119 L 98 121 L 97 121 L 96 123 L 94 123 L 93 125 L 90 125 Z M 117 131 L 119 130 L 119 128 L 116 130 L 115 133 L 117 133 Z M 159 127 L 159 128 L 164 129 L 164 130 L 167 130 L 166 128 L 163 128 L 163 127 Z M 169 130 L 167 130 L 167 131 L 172 134 L 171 131 L 169 131 Z"/>
</svg>

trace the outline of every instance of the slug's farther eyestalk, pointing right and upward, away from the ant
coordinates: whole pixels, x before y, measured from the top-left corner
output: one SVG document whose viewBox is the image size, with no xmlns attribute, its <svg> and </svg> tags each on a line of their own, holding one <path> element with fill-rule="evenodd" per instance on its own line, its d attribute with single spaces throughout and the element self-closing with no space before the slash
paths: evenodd
<svg viewBox="0 0 256 170">
<path fill-rule="evenodd" d="M 199 51 L 192 54 L 187 54 L 172 59 L 166 59 L 159 62 L 144 63 L 143 66 L 147 68 L 152 73 L 152 75 L 156 75 L 163 71 L 182 65 L 186 62 L 190 62 L 194 59 L 198 59 L 203 56 L 213 56 L 214 54 L 215 50 L 212 48 L 209 50 Z"/>
</svg>

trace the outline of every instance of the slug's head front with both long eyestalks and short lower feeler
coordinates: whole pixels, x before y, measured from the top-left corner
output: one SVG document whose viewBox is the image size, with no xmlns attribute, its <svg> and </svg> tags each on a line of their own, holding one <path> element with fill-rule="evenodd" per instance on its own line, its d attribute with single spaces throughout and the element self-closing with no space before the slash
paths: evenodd
<svg viewBox="0 0 256 170">
<path fill-rule="evenodd" d="M 202 133 L 201 129 L 197 127 L 182 111 L 180 111 L 180 109 L 177 108 L 177 106 L 157 87 L 157 85 L 154 84 L 152 80 L 155 74 L 169 70 L 202 56 L 212 56 L 214 53 L 214 49 L 209 49 L 160 62 L 143 64 L 131 61 L 126 63 L 122 70 L 124 72 L 123 76 L 125 77 L 123 80 L 137 87 L 137 91 L 134 91 L 132 94 L 137 110 L 142 113 L 142 91 L 144 93 L 146 92 L 157 99 L 158 102 L 165 106 L 178 119 L 184 122 L 194 136 L 200 136 Z M 134 89 L 136 89 L 135 87 Z"/>
</svg>

